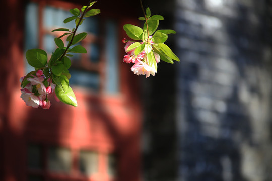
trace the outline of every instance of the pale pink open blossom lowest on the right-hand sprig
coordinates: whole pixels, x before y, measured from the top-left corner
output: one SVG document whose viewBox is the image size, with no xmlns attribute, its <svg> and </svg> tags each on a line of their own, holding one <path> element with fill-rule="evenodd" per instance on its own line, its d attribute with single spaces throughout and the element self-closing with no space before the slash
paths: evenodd
<svg viewBox="0 0 272 181">
<path fill-rule="evenodd" d="M 138 61 L 137 63 L 135 63 L 131 67 L 131 71 L 133 71 L 134 74 L 137 75 L 146 75 L 146 78 L 149 77 L 150 74 L 155 76 L 155 73 L 157 73 L 155 68 L 148 66 L 146 63 L 142 61 Z"/>
</svg>

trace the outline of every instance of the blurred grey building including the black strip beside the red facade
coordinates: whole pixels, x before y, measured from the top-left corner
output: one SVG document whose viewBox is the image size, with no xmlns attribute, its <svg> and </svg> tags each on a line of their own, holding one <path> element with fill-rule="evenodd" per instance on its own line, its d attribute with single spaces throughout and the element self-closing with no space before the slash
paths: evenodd
<svg viewBox="0 0 272 181">
<path fill-rule="evenodd" d="M 144 180 L 272 180 L 272 1 L 145 4 L 181 61 L 144 83 Z"/>
</svg>

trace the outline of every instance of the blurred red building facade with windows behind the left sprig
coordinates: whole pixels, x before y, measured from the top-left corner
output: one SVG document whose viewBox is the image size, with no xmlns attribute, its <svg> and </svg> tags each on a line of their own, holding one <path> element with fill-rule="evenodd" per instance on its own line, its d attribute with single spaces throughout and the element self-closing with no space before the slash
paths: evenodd
<svg viewBox="0 0 272 181">
<path fill-rule="evenodd" d="M 67 11 L 86 2 L 14 0 L 2 3 L 2 12 L 9 16 L 4 19 L 5 28 L 1 33 L 0 180 L 140 180 L 139 86 L 129 65 L 122 63 L 121 42 L 125 37 L 122 26 L 133 23 L 133 17 L 124 16 L 119 5 L 98 2 L 95 7 L 102 12 L 97 18 L 100 29 L 96 35 L 90 33 L 83 46 L 96 43 L 100 48 L 98 61 L 88 61 L 91 55 L 87 54 L 78 58 L 72 68 L 76 72 L 95 73 L 99 78 L 96 89 L 81 86 L 75 80 L 72 86 L 78 107 L 52 98 L 49 110 L 34 109 L 20 98 L 19 79 L 27 73 L 26 7 L 33 3 L 37 8 L 36 48 L 44 49 L 43 36 L 50 35 L 42 22 L 45 8 Z M 115 39 L 107 36 L 107 17 L 114 22 Z M 107 44 L 108 41 L 112 44 Z M 117 50 L 114 56 L 118 61 L 114 64 L 109 60 L 112 45 Z M 112 82 L 117 82 L 113 88 Z"/>
</svg>

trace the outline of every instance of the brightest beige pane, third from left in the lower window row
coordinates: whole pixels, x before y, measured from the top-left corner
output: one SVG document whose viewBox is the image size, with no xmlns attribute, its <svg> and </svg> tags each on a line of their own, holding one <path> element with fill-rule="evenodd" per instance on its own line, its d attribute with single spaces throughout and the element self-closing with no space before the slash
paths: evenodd
<svg viewBox="0 0 272 181">
<path fill-rule="evenodd" d="M 98 172 L 98 153 L 94 151 L 80 151 L 80 172 L 90 176 Z"/>
</svg>

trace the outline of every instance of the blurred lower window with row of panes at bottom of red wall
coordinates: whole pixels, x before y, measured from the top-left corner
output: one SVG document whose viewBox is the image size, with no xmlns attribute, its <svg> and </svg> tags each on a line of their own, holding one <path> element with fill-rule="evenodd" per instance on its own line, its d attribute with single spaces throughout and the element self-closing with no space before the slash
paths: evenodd
<svg viewBox="0 0 272 181">
<path fill-rule="evenodd" d="M 99 175 L 113 180 L 116 159 L 111 153 L 96 150 L 28 144 L 27 170 L 28 181 L 99 180 Z"/>
</svg>

